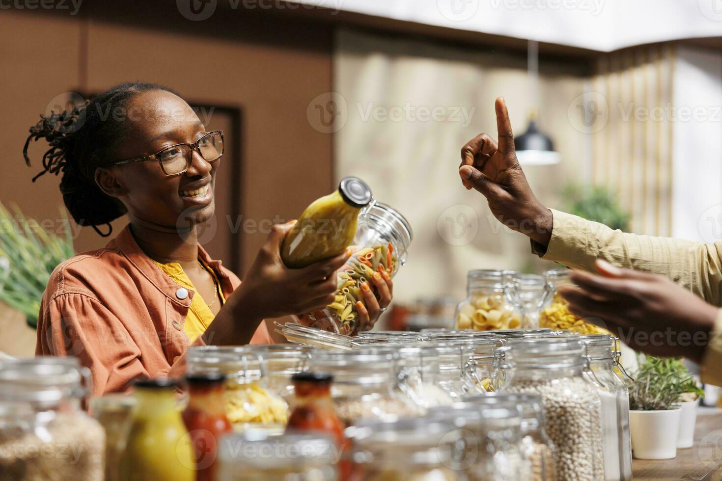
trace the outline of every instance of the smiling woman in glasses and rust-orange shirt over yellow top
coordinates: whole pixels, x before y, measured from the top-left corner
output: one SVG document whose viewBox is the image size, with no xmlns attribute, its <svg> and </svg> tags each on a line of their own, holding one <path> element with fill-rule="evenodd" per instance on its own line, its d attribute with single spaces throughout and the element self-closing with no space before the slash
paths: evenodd
<svg viewBox="0 0 722 481">
<path fill-rule="evenodd" d="M 271 343 L 263 319 L 334 300 L 347 255 L 287 268 L 280 246 L 290 224 L 274 226 L 243 283 L 201 247 L 196 226 L 214 214 L 224 138 L 171 89 L 121 84 L 41 115 L 27 164 L 30 141 L 41 138 L 50 149 L 35 179 L 61 175 L 79 225 L 108 236 L 110 221 L 130 219 L 105 248 L 58 265 L 40 307 L 36 353 L 77 356 L 94 394 L 139 376 L 180 376 L 189 345 Z"/>
</svg>

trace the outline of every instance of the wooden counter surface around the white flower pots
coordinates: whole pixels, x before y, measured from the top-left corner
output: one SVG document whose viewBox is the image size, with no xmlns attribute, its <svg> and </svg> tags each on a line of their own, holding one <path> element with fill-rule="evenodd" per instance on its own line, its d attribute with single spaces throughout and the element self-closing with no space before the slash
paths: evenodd
<svg viewBox="0 0 722 481">
<path fill-rule="evenodd" d="M 632 472 L 635 480 L 722 480 L 722 410 L 698 410 L 695 446 L 677 449 L 674 459 L 634 459 Z"/>
</svg>

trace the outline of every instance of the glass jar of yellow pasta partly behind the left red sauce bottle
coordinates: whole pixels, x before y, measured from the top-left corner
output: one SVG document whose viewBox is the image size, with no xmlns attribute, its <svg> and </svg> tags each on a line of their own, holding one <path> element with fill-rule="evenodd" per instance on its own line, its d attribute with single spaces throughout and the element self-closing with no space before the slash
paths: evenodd
<svg viewBox="0 0 722 481">
<path fill-rule="evenodd" d="M 224 374 L 226 417 L 236 430 L 282 432 L 288 404 L 266 385 L 264 362 L 252 347 L 191 346 L 188 374 Z"/>
</svg>

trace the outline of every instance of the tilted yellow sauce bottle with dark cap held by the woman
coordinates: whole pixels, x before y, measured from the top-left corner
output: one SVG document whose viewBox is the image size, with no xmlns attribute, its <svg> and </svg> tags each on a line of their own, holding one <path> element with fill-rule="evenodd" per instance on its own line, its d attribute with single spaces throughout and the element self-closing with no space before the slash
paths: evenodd
<svg viewBox="0 0 722 481">
<path fill-rule="evenodd" d="M 344 252 L 356 235 L 359 212 L 371 198 L 365 182 L 344 177 L 336 192 L 314 200 L 303 211 L 283 241 L 283 262 L 303 268 Z"/>
</svg>

